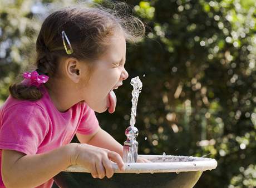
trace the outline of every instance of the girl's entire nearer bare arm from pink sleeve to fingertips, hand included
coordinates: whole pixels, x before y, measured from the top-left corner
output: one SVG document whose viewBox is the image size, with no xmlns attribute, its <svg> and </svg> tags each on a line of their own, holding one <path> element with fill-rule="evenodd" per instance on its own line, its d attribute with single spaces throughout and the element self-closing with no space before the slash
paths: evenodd
<svg viewBox="0 0 256 188">
<path fill-rule="evenodd" d="M 111 161 L 121 170 L 124 162 L 119 154 L 91 146 L 71 143 L 45 154 L 24 155 L 18 151 L 2 151 L 2 179 L 6 187 L 36 187 L 50 180 L 70 165 L 82 165 L 93 177 L 112 177 Z"/>
</svg>

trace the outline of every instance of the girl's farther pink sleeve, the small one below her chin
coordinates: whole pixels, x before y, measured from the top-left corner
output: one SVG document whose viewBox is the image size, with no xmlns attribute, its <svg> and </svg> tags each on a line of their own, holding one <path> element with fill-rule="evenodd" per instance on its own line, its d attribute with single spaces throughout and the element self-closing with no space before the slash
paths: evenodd
<svg viewBox="0 0 256 188">
<path fill-rule="evenodd" d="M 76 132 L 86 135 L 92 134 L 99 129 L 99 121 L 96 118 L 95 112 L 86 103 L 82 103 L 81 105 L 84 112 Z"/>
</svg>

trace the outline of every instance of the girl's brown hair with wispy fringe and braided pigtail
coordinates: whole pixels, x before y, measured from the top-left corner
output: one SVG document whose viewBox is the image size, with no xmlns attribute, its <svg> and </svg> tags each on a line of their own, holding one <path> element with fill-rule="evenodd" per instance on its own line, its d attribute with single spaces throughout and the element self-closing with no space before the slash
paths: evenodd
<svg viewBox="0 0 256 188">
<path fill-rule="evenodd" d="M 55 76 L 58 63 L 63 57 L 90 60 L 99 57 L 110 38 L 119 31 L 128 42 L 136 42 L 144 35 L 144 24 L 136 17 L 116 11 L 117 7 L 126 9 L 124 3 L 115 4 L 115 11 L 97 7 L 68 7 L 51 13 L 43 22 L 36 41 L 36 67 L 39 74 Z M 120 14 L 121 13 L 121 14 Z M 62 34 L 65 31 L 73 48 L 68 55 L 63 47 Z M 43 94 L 35 86 L 22 83 L 9 87 L 13 98 L 38 100 Z"/>
</svg>

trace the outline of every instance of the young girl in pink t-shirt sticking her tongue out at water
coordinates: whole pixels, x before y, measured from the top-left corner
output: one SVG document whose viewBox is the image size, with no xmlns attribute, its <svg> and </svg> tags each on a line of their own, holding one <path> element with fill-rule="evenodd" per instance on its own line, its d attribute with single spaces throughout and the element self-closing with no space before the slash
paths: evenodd
<svg viewBox="0 0 256 188">
<path fill-rule="evenodd" d="M 122 145 L 100 128 L 94 111 L 115 111 L 113 90 L 128 77 L 126 40 L 143 33 L 138 19 L 100 8 L 70 7 L 45 19 L 37 69 L 9 88 L 0 110 L 0 187 L 51 187 L 70 165 L 100 179 L 113 175 L 111 161 L 125 170 Z M 75 134 L 86 144 L 70 144 Z"/>
</svg>

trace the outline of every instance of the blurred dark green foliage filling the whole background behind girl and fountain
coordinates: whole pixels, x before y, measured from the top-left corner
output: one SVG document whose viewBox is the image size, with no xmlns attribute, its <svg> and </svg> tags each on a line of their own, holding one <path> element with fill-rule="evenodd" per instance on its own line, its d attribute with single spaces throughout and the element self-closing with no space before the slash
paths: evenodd
<svg viewBox="0 0 256 188">
<path fill-rule="evenodd" d="M 0 0 L 0 100 L 32 60 L 47 3 Z M 99 1 L 98 1 L 99 2 Z M 140 76 L 139 153 L 207 156 L 218 168 L 195 187 L 256 186 L 256 4 L 254 0 L 128 1 L 146 37 L 127 46 L 130 78 Z M 114 114 L 97 114 L 120 143 L 129 126 L 130 78 Z"/>
</svg>

